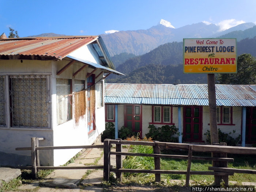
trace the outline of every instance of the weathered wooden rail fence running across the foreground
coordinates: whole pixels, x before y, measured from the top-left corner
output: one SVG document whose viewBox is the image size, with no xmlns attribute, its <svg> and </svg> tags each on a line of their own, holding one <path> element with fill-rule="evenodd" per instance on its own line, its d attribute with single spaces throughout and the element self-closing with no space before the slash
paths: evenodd
<svg viewBox="0 0 256 192">
<path fill-rule="evenodd" d="M 197 175 L 214 175 L 215 184 L 219 184 L 221 180 L 228 185 L 229 175 L 234 173 L 248 173 L 256 174 L 256 170 L 245 169 L 231 169 L 227 167 L 227 162 L 233 162 L 233 158 L 227 158 L 227 153 L 231 154 L 253 154 L 256 155 L 256 148 L 253 147 L 231 147 L 225 146 L 225 143 L 220 145 L 198 145 L 198 144 L 185 144 L 185 143 L 166 143 L 166 142 L 142 142 L 142 141 L 127 141 L 127 140 L 112 140 L 105 139 L 103 145 L 90 145 L 90 146 L 60 146 L 60 147 L 39 147 L 38 140 L 42 138 L 31 138 L 31 147 L 19 147 L 16 150 L 31 150 L 31 166 L 24 167 L 26 169 L 32 169 L 33 177 L 37 177 L 37 170 L 39 169 L 103 169 L 104 180 L 108 181 L 110 172 L 115 172 L 116 177 L 122 179 L 122 173 L 153 173 L 155 174 L 155 181 L 161 181 L 161 174 L 185 174 L 186 186 L 189 186 L 189 178 L 192 174 Z M 110 151 L 112 144 L 116 145 L 116 151 Z M 144 145 L 152 146 L 153 154 L 144 153 L 126 153 L 122 152 L 122 145 Z M 103 166 L 40 166 L 39 151 L 38 150 L 54 150 L 54 149 L 75 149 L 75 148 L 103 148 L 104 151 L 104 165 Z M 163 149 L 181 149 L 187 150 L 188 155 L 165 155 L 160 154 Z M 193 156 L 193 151 L 197 152 L 211 152 L 212 157 L 199 157 Z M 110 155 L 116 155 L 116 168 L 110 165 Z M 154 157 L 154 170 L 145 169 L 123 169 L 122 155 L 129 156 L 144 156 Z M 188 159 L 187 170 L 161 170 L 160 158 L 176 158 L 176 159 Z M 209 171 L 191 171 L 192 160 L 205 160 L 212 161 L 212 167 L 208 167 Z"/>
</svg>

